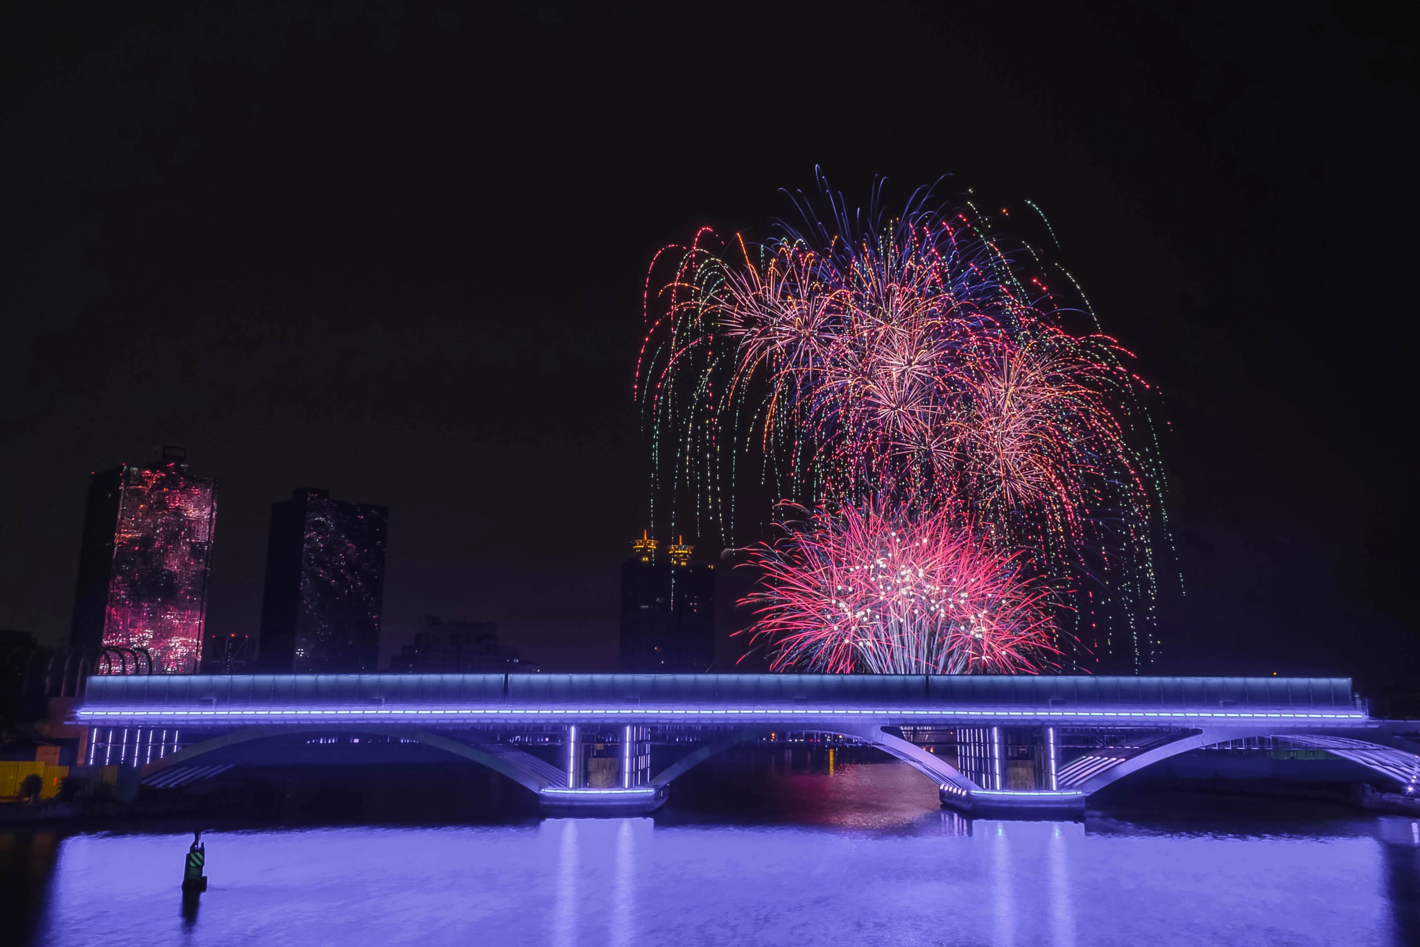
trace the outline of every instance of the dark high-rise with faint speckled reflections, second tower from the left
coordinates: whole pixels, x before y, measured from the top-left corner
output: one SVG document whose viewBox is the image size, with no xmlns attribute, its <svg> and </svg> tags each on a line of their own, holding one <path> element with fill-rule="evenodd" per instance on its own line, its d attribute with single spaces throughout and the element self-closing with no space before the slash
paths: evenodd
<svg viewBox="0 0 1420 947">
<path fill-rule="evenodd" d="M 271 504 L 261 640 L 266 673 L 373 673 L 389 507 L 295 490 Z"/>
</svg>

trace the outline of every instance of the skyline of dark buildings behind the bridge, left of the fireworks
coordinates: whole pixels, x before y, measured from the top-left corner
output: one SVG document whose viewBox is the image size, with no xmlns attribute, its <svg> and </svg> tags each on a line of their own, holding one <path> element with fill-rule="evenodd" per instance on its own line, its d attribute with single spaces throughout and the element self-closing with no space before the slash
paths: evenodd
<svg viewBox="0 0 1420 947">
<path fill-rule="evenodd" d="M 437 670 L 444 664 L 450 672 L 486 666 L 537 670 L 535 664 L 520 666 L 518 649 L 498 643 L 493 622 L 446 622 L 429 616 L 425 630 L 383 639 L 379 612 L 389 508 L 334 500 L 325 488 L 298 487 L 290 500 L 271 504 L 260 622 L 240 630 L 206 632 L 204 589 L 216 535 L 217 478 L 187 474 L 185 460 L 185 447 L 165 444 L 153 449 L 153 460 L 146 466 L 119 464 L 92 474 L 71 615 L 71 647 L 102 643 L 142 649 L 152 655 L 159 673 L 197 673 L 199 663 L 210 667 L 207 673 L 233 673 L 224 666 L 224 657 L 234 657 L 247 673 L 376 673 L 386 664 L 406 672 Z M 193 498 L 200 501 L 200 510 L 187 508 Z M 195 520 L 197 513 L 200 517 Z M 192 540 L 189 534 L 196 532 L 200 538 Z M 666 626 L 657 626 L 659 632 L 648 632 L 659 643 L 646 647 L 660 650 L 689 635 L 694 639 L 686 645 L 689 650 L 669 655 L 670 666 L 663 670 L 680 673 L 692 666 L 710 667 L 716 659 L 717 630 L 714 566 L 692 562 L 694 547 L 684 542 L 683 534 L 674 542 L 662 544 L 649 532 L 643 530 L 642 537 L 632 541 L 633 561 L 639 555 L 652 571 L 663 566 L 649 581 L 650 585 L 666 584 L 665 599 L 655 599 L 659 585 L 657 589 L 646 582 L 632 585 L 645 593 L 642 598 L 655 599 L 653 608 L 665 605 L 669 625 L 662 622 Z M 362 545 L 362 537 L 372 545 Z M 173 598 L 172 591 L 153 602 L 135 598 L 132 588 L 152 586 L 155 579 L 148 574 L 155 569 L 169 574 L 166 585 L 173 585 L 172 569 L 166 566 L 172 548 L 182 542 L 200 549 L 200 555 L 195 561 L 196 578 L 176 576 L 176 608 L 166 603 Z M 665 549 L 657 561 L 660 545 Z M 152 554 L 142 562 L 135 559 L 141 549 L 155 548 L 156 559 Z M 626 596 L 636 596 L 626 585 L 629 565 L 623 564 L 621 571 L 619 662 L 623 669 L 635 664 L 652 670 L 652 663 L 665 664 L 665 660 L 639 660 L 635 656 L 638 645 L 628 639 L 646 636 L 628 626 Z M 193 599 L 190 605 L 185 605 L 187 599 Z M 166 616 L 168 612 L 172 616 Z M 149 613 L 158 619 L 152 620 Z M 136 628 L 135 622 L 143 625 L 143 618 L 155 628 Z M 229 637 L 237 642 L 226 642 Z M 237 650 L 233 652 L 233 646 Z M 390 656 L 392 647 L 400 652 Z M 463 650 L 469 652 L 467 660 L 460 657 Z"/>
</svg>

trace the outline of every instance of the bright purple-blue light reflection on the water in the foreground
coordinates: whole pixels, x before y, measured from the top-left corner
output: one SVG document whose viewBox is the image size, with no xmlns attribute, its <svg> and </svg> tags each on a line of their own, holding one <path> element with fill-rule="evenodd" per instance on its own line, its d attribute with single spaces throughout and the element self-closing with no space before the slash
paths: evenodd
<svg viewBox="0 0 1420 947">
<path fill-rule="evenodd" d="M 1373 838 L 957 828 L 934 814 L 892 835 L 650 819 L 219 832 L 190 927 L 189 836 L 75 836 L 41 943 L 1397 943 Z"/>
</svg>

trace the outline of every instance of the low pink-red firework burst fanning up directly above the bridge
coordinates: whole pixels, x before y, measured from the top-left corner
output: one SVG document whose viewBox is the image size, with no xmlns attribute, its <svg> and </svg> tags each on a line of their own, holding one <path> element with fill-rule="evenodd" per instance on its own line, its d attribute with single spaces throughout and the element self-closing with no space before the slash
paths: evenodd
<svg viewBox="0 0 1420 947">
<path fill-rule="evenodd" d="M 775 670 L 1039 673 L 1058 653 L 1055 596 L 949 511 L 816 510 L 751 551 L 751 633 Z"/>
</svg>

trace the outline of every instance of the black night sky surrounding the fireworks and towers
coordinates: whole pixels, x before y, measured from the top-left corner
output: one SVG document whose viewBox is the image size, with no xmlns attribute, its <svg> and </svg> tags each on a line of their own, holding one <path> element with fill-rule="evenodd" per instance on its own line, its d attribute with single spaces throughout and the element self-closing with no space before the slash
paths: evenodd
<svg viewBox="0 0 1420 947">
<path fill-rule="evenodd" d="M 1403 703 L 1414 14 L 1074 6 L 7 7 L 0 626 L 67 636 L 89 471 L 168 443 L 209 630 L 317 486 L 390 507 L 386 656 L 435 613 L 615 669 L 646 264 L 822 166 L 1049 217 L 1163 392 L 1160 673 Z"/>
</svg>

